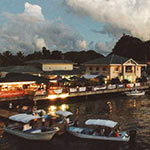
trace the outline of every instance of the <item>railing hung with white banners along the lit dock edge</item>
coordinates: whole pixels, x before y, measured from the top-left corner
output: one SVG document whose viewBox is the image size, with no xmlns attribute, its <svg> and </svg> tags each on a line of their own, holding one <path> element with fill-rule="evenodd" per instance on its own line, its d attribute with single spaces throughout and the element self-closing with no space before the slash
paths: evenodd
<svg viewBox="0 0 150 150">
<path fill-rule="evenodd" d="M 128 84 L 105 84 L 105 85 L 97 85 L 97 86 L 76 86 L 76 87 L 60 87 L 62 88 L 61 93 L 51 92 L 52 94 L 35 96 L 34 100 L 42 100 L 42 99 L 57 99 L 61 98 L 62 94 L 67 93 L 67 97 L 78 97 L 78 96 L 87 96 L 87 95 L 95 95 L 95 94 L 104 94 L 104 93 L 117 93 L 117 92 L 126 92 L 130 90 L 146 90 L 149 89 L 150 84 L 147 82 L 143 83 L 128 83 Z"/>
</svg>

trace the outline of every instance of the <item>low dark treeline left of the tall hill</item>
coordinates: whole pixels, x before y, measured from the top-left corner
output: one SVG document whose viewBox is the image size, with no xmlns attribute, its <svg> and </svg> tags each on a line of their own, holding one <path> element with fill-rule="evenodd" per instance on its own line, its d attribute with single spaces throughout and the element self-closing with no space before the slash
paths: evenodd
<svg viewBox="0 0 150 150">
<path fill-rule="evenodd" d="M 86 61 L 101 57 L 104 56 L 93 50 L 78 52 L 70 51 L 62 53 L 59 50 L 50 51 L 43 47 L 42 51 L 35 51 L 34 53 L 28 54 L 26 56 L 21 51 L 15 55 L 13 55 L 10 51 L 5 51 L 2 54 L 0 53 L 0 66 L 21 65 L 25 61 L 38 59 L 65 59 L 77 64 L 81 64 Z"/>
</svg>

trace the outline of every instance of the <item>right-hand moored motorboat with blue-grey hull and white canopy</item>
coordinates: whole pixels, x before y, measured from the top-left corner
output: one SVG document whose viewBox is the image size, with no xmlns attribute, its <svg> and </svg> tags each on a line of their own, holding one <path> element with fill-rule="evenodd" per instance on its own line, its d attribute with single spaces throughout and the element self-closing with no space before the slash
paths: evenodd
<svg viewBox="0 0 150 150">
<path fill-rule="evenodd" d="M 89 119 L 85 122 L 90 127 L 68 127 L 68 132 L 76 137 L 82 139 L 94 139 L 102 141 L 117 141 L 128 142 L 131 136 L 126 131 L 117 131 L 118 123 L 111 120 L 104 119 Z M 96 128 L 94 128 L 95 126 Z M 132 131 L 132 141 L 135 139 L 136 131 Z"/>
</svg>

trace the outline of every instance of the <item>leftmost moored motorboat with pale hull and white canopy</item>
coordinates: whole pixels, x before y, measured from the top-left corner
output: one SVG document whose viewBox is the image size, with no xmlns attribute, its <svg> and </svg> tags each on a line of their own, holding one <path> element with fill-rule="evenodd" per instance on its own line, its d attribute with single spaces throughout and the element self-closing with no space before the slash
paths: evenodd
<svg viewBox="0 0 150 150">
<path fill-rule="evenodd" d="M 58 127 L 43 126 L 39 115 L 22 113 L 10 116 L 9 120 L 10 123 L 3 130 L 27 140 L 48 141 L 59 131 Z"/>
</svg>

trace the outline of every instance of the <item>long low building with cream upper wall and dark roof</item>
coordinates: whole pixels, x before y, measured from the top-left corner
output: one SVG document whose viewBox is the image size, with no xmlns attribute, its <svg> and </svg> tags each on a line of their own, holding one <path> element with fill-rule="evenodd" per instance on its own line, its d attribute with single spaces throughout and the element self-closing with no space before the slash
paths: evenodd
<svg viewBox="0 0 150 150">
<path fill-rule="evenodd" d="M 49 79 L 57 78 L 70 78 L 74 75 L 80 75 L 81 70 L 76 67 L 76 64 L 68 60 L 32 60 L 25 62 L 26 65 L 40 68 L 42 73 L 40 76 L 47 77 Z"/>
</svg>

